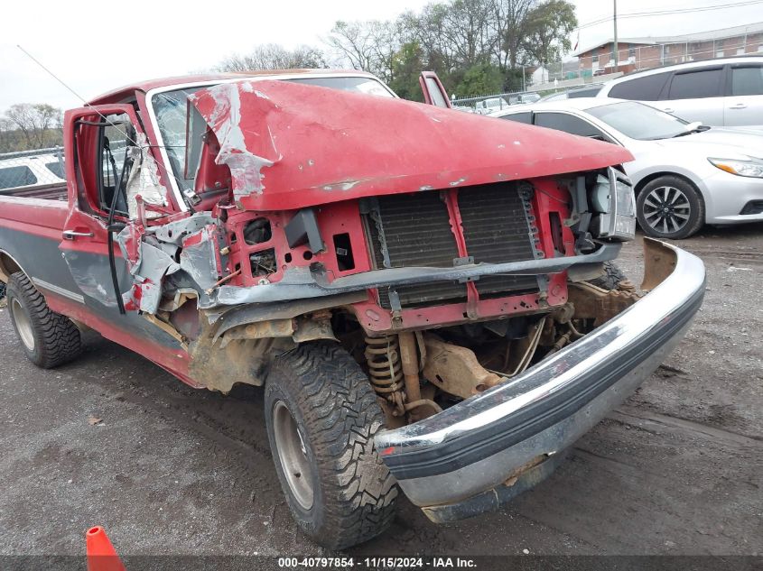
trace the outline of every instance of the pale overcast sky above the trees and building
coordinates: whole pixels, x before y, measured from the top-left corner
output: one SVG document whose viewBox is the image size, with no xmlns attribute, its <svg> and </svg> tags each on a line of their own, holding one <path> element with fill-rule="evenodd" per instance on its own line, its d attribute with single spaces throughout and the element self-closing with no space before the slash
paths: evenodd
<svg viewBox="0 0 763 571">
<path fill-rule="evenodd" d="M 21 102 L 64 108 L 81 103 L 16 44 L 87 99 L 138 79 L 208 69 L 257 43 L 277 42 L 290 48 L 301 43 L 321 45 L 321 37 L 336 20 L 388 19 L 425 4 L 427 0 L 5 2 L 0 110 Z M 611 0 L 573 0 L 573 4 L 581 24 L 611 15 Z M 628 14 L 720 4 L 721 0 L 619 0 L 618 11 Z M 763 21 L 763 3 L 696 14 L 624 18 L 618 27 L 619 36 L 628 37 L 701 32 L 758 21 Z M 611 21 L 584 27 L 581 47 L 611 35 Z M 573 44 L 575 39 L 576 33 Z"/>
</svg>

